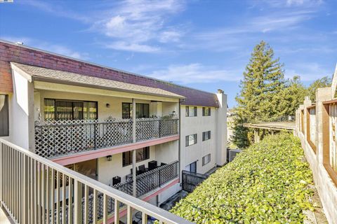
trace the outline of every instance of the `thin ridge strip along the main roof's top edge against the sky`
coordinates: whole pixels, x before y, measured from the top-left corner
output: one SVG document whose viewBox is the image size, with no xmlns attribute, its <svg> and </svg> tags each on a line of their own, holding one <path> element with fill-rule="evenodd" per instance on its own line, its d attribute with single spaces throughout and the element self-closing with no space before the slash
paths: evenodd
<svg viewBox="0 0 337 224">
<path fill-rule="evenodd" d="M 65 57 L 67 59 L 72 59 L 72 60 L 75 60 L 77 62 L 83 62 L 83 63 L 86 63 L 86 64 L 91 64 L 93 66 L 99 66 L 101 68 L 105 68 L 105 69 L 111 69 L 113 71 L 117 71 L 117 72 L 122 72 L 122 73 L 126 73 L 128 75 L 131 75 L 131 76 L 140 76 L 140 77 L 143 77 L 143 78 L 149 78 L 149 79 L 152 79 L 152 80 L 155 80 L 155 81 L 158 81 L 158 82 L 161 82 L 161 83 L 164 83 L 166 85 L 176 85 L 177 87 L 183 87 L 183 88 L 186 88 L 186 89 L 190 89 L 190 90 L 197 90 L 197 91 L 200 91 L 200 92 L 206 92 L 206 93 L 209 93 L 209 94 L 215 94 L 213 92 L 207 92 L 205 90 L 199 90 L 199 89 L 196 89 L 196 88 L 192 88 L 192 87 L 187 87 L 185 85 L 180 85 L 180 84 L 176 84 L 176 83 L 171 83 L 169 81 L 166 81 L 166 80 L 161 80 L 159 78 L 153 78 L 153 77 L 150 77 L 150 76 L 145 76 L 145 75 L 141 75 L 139 73 L 133 73 L 133 72 L 130 72 L 130 71 L 125 71 L 125 70 L 121 70 L 121 69 L 115 69 L 111 66 L 105 66 L 105 65 L 102 65 L 102 64 L 96 64 L 94 62 L 88 62 L 88 61 L 84 61 L 82 59 L 77 59 L 77 58 L 74 58 L 74 57 L 69 57 L 69 56 L 66 56 L 66 55 L 60 55 L 58 53 L 55 53 L 55 52 L 51 52 L 51 51 L 48 51 L 48 50 L 42 50 L 42 49 L 39 49 L 39 48 L 34 48 L 34 47 L 30 47 L 28 45 L 18 45 L 14 42 L 11 42 L 11 41 L 6 41 L 4 39 L 1 39 L 0 38 L 0 42 L 3 42 L 3 43 L 8 43 L 8 44 L 11 44 L 11 45 L 15 45 L 15 46 L 18 46 L 20 48 L 28 48 L 28 49 L 31 49 L 31 50 L 37 50 L 37 51 L 40 51 L 40 52 L 46 52 L 48 54 L 51 54 L 51 55 L 56 55 L 56 56 L 59 56 L 59 57 Z"/>
</svg>

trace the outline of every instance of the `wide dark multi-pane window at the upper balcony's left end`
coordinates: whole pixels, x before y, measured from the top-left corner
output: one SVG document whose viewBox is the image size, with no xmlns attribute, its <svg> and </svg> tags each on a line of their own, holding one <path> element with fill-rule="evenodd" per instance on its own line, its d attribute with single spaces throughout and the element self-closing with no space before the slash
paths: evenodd
<svg viewBox="0 0 337 224">
<path fill-rule="evenodd" d="M 45 120 L 95 120 L 97 102 L 44 99 Z"/>
</svg>

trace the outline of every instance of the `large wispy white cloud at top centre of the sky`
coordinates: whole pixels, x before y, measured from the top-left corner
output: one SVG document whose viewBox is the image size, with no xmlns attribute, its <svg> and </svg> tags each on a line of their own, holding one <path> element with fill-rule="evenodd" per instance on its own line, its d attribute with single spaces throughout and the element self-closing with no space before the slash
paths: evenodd
<svg viewBox="0 0 337 224">
<path fill-rule="evenodd" d="M 99 31 L 113 44 L 107 48 L 136 52 L 157 52 L 153 42 L 176 42 L 182 32 L 166 27 L 169 15 L 183 10 L 183 1 L 122 1 L 102 13 L 91 30 Z"/>
</svg>

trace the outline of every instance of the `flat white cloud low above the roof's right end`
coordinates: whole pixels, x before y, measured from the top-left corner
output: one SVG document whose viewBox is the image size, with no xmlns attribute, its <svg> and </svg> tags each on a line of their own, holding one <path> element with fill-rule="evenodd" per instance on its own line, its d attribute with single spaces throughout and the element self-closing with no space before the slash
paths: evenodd
<svg viewBox="0 0 337 224">
<path fill-rule="evenodd" d="M 242 72 L 213 68 L 202 64 L 171 65 L 167 69 L 153 71 L 149 76 L 175 83 L 216 83 L 220 80 L 240 80 Z"/>
</svg>

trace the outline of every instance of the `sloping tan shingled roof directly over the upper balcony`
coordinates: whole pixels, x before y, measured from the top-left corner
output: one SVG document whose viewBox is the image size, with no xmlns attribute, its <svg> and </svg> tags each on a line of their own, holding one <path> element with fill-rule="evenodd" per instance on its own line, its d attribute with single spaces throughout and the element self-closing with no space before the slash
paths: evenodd
<svg viewBox="0 0 337 224">
<path fill-rule="evenodd" d="M 135 85 L 130 83 L 122 83 L 119 81 L 114 81 L 105 78 L 97 78 L 93 76 L 83 76 L 68 71 L 45 69 L 38 66 L 20 64 L 17 62 L 12 62 L 12 64 L 16 68 L 27 73 L 29 76 L 34 77 L 33 78 L 34 80 L 41 80 L 41 81 L 52 80 L 56 83 L 65 83 L 65 84 L 70 83 L 86 87 L 97 87 L 107 90 L 118 90 L 122 92 L 133 92 L 138 94 L 150 94 L 159 97 L 184 98 L 183 96 L 180 96 L 173 92 L 161 90 L 159 88 L 154 87 L 147 87 L 143 85 Z"/>
</svg>

